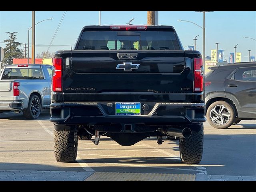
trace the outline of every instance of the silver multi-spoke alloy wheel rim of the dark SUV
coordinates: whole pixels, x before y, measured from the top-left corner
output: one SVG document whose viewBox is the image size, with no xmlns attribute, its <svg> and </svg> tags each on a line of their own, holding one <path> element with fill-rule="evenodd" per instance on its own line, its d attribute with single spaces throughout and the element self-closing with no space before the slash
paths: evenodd
<svg viewBox="0 0 256 192">
<path fill-rule="evenodd" d="M 230 110 L 224 105 L 216 105 L 210 111 L 210 118 L 216 125 L 225 125 L 230 121 Z"/>
</svg>

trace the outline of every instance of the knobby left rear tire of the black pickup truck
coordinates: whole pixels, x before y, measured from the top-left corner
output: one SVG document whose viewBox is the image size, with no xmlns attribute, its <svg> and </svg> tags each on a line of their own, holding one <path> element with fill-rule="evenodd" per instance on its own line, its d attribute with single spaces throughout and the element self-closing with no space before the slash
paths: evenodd
<svg viewBox="0 0 256 192">
<path fill-rule="evenodd" d="M 54 130 L 54 152 L 58 162 L 74 162 L 77 156 L 78 138 L 75 130 Z"/>
</svg>

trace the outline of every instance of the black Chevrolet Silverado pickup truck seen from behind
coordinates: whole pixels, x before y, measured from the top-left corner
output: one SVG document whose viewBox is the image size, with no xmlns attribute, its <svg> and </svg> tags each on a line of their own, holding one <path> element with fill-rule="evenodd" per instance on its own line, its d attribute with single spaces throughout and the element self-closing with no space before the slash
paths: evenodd
<svg viewBox="0 0 256 192">
<path fill-rule="evenodd" d="M 172 26 L 85 26 L 74 50 L 53 58 L 51 118 L 55 157 L 76 160 L 78 136 L 122 146 L 154 136 L 180 138 L 180 158 L 203 151 L 204 69 Z"/>
</svg>

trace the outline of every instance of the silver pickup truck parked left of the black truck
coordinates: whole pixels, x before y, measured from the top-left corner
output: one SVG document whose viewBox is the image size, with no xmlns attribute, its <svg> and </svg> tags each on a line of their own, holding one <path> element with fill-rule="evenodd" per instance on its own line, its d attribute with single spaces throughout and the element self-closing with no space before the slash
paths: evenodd
<svg viewBox="0 0 256 192">
<path fill-rule="evenodd" d="M 0 77 L 0 112 L 23 112 L 36 119 L 42 108 L 50 107 L 52 66 L 14 64 L 4 68 Z"/>
</svg>

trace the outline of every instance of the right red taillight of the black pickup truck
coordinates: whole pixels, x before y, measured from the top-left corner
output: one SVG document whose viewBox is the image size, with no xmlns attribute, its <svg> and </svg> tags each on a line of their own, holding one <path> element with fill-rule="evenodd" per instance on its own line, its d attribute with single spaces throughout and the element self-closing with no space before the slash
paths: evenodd
<svg viewBox="0 0 256 192">
<path fill-rule="evenodd" d="M 202 58 L 194 58 L 194 92 L 202 92 L 204 89 Z"/>
</svg>

